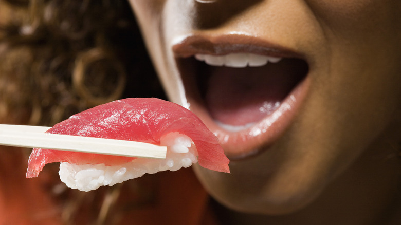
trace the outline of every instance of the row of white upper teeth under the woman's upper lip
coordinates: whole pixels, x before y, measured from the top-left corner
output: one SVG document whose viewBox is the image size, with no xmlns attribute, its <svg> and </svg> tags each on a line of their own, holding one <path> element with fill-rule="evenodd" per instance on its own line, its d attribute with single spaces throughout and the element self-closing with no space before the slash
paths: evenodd
<svg viewBox="0 0 401 225">
<path fill-rule="evenodd" d="M 264 66 L 267 62 L 277 63 L 282 58 L 252 53 L 232 53 L 227 55 L 195 54 L 195 58 L 211 66 L 246 67 Z"/>
</svg>

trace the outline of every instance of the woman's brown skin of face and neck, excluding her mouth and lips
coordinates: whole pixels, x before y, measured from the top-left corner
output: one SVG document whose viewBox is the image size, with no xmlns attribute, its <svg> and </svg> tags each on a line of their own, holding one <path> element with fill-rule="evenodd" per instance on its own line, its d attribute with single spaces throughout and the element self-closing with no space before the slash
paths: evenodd
<svg viewBox="0 0 401 225">
<path fill-rule="evenodd" d="M 183 35 L 242 33 L 294 50 L 308 63 L 300 109 L 274 143 L 259 144 L 267 151 L 231 161 L 231 174 L 195 167 L 209 193 L 231 209 L 222 216 L 246 224 L 396 223 L 401 2 L 131 4 L 170 100 L 195 114 L 172 51 Z"/>
</svg>

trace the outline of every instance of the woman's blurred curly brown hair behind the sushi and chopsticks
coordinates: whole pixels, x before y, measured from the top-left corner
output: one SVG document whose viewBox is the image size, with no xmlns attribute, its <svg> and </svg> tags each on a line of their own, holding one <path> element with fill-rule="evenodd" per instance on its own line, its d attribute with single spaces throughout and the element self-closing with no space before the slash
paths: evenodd
<svg viewBox="0 0 401 225">
<path fill-rule="evenodd" d="M 0 8 L 0 123 L 51 126 L 118 98 L 165 99 L 127 1 L 0 0 Z M 9 164 L 2 169 L 15 167 Z M 49 169 L 53 176 L 58 168 Z M 46 182 L 48 193 L 64 202 L 63 224 L 111 221 L 107 215 L 121 185 L 80 193 L 60 191 L 59 181 Z M 135 197 L 137 181 L 124 186 L 131 186 Z M 141 192 L 137 202 L 152 198 Z M 104 200 L 88 200 L 94 198 Z M 83 208 L 89 211 L 84 220 L 77 216 Z"/>
</svg>

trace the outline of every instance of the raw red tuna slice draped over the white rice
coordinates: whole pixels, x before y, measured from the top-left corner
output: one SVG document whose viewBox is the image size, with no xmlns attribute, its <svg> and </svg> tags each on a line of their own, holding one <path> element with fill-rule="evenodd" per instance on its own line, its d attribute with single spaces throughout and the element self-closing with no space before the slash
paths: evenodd
<svg viewBox="0 0 401 225">
<path fill-rule="evenodd" d="M 188 109 L 155 98 L 129 98 L 99 105 L 54 125 L 47 133 L 160 145 L 167 134 L 179 133 L 191 139 L 200 166 L 229 173 L 229 160 L 218 139 Z M 169 154 L 169 153 L 168 153 Z M 37 177 L 47 163 L 119 166 L 140 162 L 139 158 L 56 151 L 34 148 L 28 161 L 27 178 Z M 61 175 L 60 175 L 61 176 Z"/>
</svg>

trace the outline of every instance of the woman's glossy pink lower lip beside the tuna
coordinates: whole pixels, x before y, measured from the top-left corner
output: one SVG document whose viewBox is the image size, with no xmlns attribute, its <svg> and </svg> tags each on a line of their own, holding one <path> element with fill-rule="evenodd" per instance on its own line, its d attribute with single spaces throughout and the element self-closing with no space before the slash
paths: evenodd
<svg viewBox="0 0 401 225">
<path fill-rule="evenodd" d="M 230 160 L 241 160 L 259 154 L 279 139 L 297 115 L 309 88 L 306 76 L 281 102 L 274 113 L 250 127 L 233 132 L 222 128 L 210 117 L 207 109 L 188 96 L 190 109 L 218 137 Z"/>
</svg>

